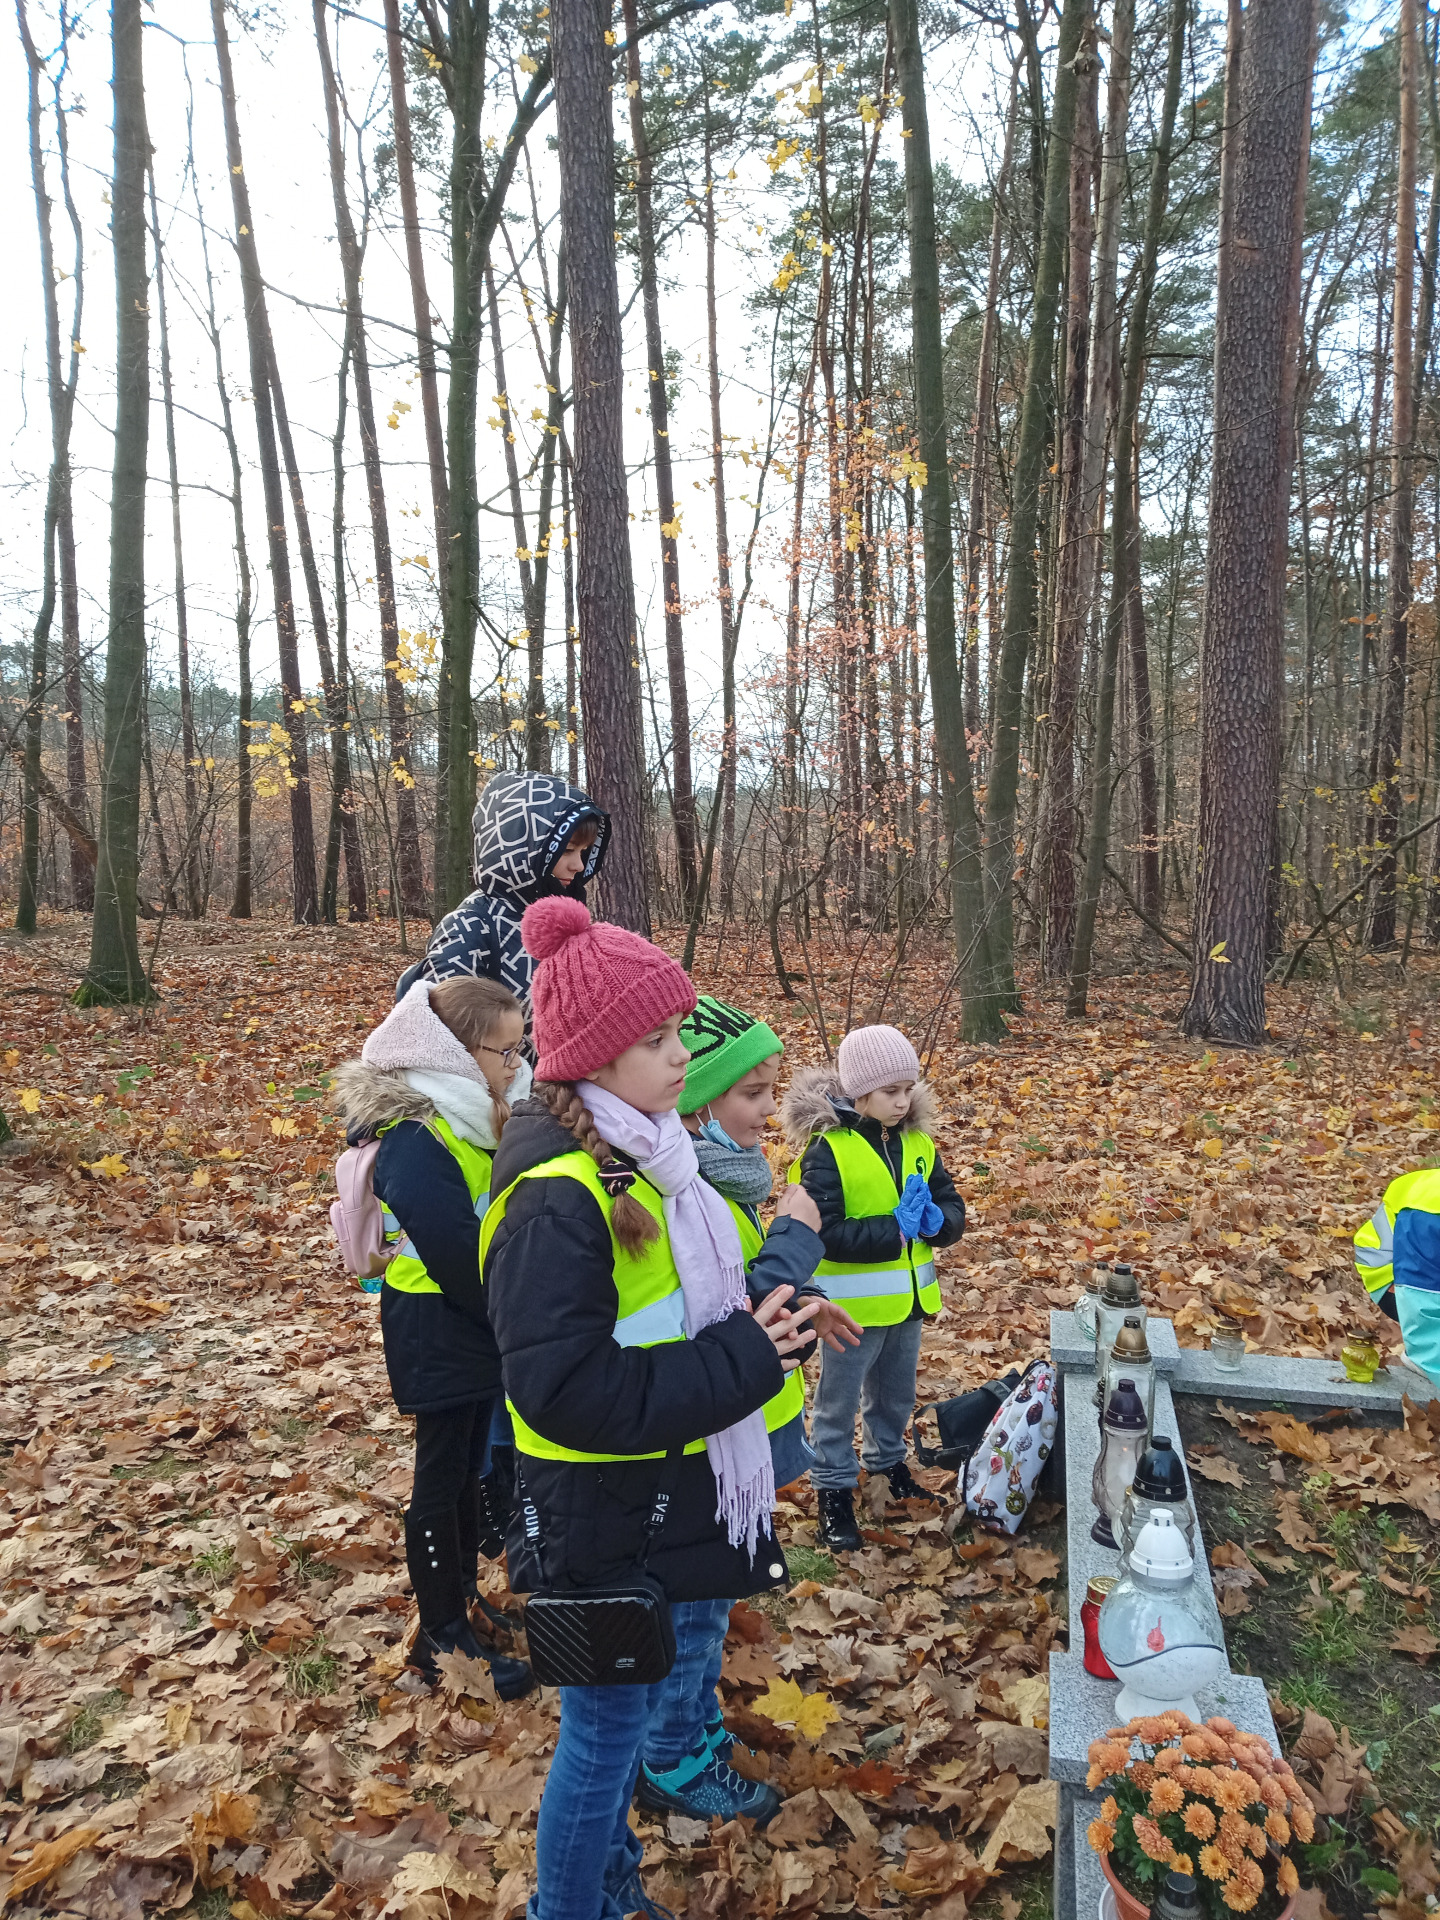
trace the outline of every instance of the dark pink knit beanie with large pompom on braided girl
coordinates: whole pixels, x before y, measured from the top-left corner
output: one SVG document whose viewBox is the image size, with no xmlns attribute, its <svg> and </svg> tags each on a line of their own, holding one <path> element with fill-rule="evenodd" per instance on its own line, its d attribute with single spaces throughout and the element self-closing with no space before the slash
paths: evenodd
<svg viewBox="0 0 1440 1920">
<path fill-rule="evenodd" d="M 520 939 L 540 962 L 530 985 L 536 1079 L 586 1079 L 672 1014 L 695 1006 L 680 962 L 626 927 L 591 922 L 580 900 L 536 900 L 524 912 Z"/>
</svg>

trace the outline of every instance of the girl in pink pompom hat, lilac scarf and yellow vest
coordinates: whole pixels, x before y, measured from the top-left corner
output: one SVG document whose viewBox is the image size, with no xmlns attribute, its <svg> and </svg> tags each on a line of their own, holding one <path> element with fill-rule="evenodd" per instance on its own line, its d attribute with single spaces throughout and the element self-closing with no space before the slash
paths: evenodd
<svg viewBox="0 0 1440 1920">
<path fill-rule="evenodd" d="M 676 1663 L 710 1659 L 732 1601 L 787 1580 L 772 1530 L 762 1407 L 808 1344 L 810 1306 L 776 1286 L 749 1311 L 730 1208 L 699 1177 L 676 1112 L 689 1050 L 689 975 L 576 900 L 522 922 L 536 956 L 536 1098 L 495 1156 L 482 1261 L 515 1421 L 526 1532 L 511 1528 L 516 1592 L 659 1580 Z M 787 1206 L 818 1225 L 799 1188 Z M 649 1534 L 657 1488 L 674 1478 Z M 716 1601 L 722 1603 L 716 1609 Z M 645 1734 L 664 1684 L 561 1688 L 536 1837 L 528 1920 L 657 1914 L 628 1824 Z M 699 1688 L 685 1690 L 701 1699 Z M 703 1709 L 697 1707 L 703 1722 Z M 726 1818 L 780 1805 L 710 1753 L 695 1788 Z M 699 1778 L 699 1776 L 705 1778 Z"/>
</svg>

